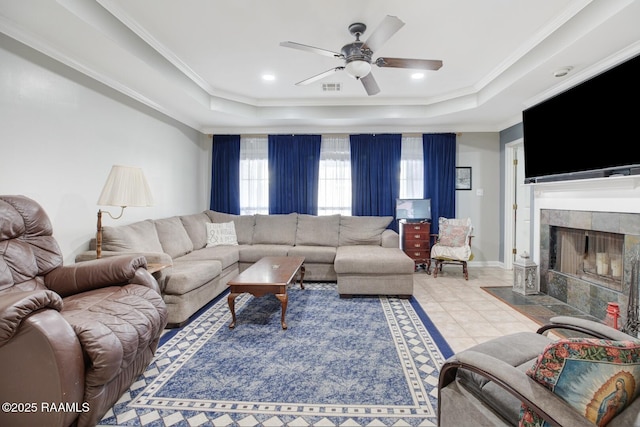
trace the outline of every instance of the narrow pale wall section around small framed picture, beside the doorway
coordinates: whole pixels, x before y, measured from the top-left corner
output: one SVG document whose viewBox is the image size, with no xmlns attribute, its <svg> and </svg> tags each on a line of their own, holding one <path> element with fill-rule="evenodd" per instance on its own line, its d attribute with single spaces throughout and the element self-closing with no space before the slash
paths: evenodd
<svg viewBox="0 0 640 427">
<path fill-rule="evenodd" d="M 456 166 L 471 167 L 471 190 L 456 191 L 456 216 L 473 223 L 472 262 L 500 265 L 500 135 L 462 133 L 456 140 Z"/>
</svg>

